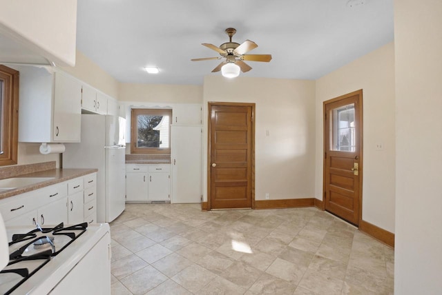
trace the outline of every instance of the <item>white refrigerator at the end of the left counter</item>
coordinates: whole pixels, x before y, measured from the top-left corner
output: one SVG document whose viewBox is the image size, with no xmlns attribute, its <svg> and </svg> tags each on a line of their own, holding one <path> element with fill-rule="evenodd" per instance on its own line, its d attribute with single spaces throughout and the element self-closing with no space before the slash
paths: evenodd
<svg viewBox="0 0 442 295">
<path fill-rule="evenodd" d="M 97 168 L 97 222 L 111 222 L 126 201 L 126 119 L 82 114 L 81 143 L 66 143 L 64 168 Z"/>
</svg>

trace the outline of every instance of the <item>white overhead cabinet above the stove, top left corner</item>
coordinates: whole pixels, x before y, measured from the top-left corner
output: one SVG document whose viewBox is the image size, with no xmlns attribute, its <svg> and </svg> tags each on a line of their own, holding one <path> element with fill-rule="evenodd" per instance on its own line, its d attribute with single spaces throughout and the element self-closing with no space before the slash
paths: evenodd
<svg viewBox="0 0 442 295">
<path fill-rule="evenodd" d="M 1 0 L 0 7 L 0 61 L 75 65 L 77 0 Z"/>
</svg>

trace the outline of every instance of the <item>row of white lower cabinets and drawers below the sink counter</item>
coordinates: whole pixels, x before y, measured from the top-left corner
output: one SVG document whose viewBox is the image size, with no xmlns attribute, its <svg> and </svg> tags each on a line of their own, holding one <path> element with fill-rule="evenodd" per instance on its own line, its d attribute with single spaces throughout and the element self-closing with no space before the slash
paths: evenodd
<svg viewBox="0 0 442 295">
<path fill-rule="evenodd" d="M 41 226 L 46 226 L 59 223 L 78 224 L 86 221 L 95 223 L 96 175 L 96 173 L 88 174 L 0 200 L 0 212 L 5 224 L 12 226 L 39 223 Z M 88 183 L 86 190 L 84 183 Z M 88 215 L 85 212 L 88 212 Z"/>
</svg>

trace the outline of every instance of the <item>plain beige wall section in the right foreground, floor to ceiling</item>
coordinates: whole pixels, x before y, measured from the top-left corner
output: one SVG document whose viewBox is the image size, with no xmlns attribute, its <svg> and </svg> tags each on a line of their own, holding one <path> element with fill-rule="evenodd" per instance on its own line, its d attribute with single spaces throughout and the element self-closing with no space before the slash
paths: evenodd
<svg viewBox="0 0 442 295">
<path fill-rule="evenodd" d="M 395 294 L 442 290 L 442 1 L 394 1 Z"/>
</svg>

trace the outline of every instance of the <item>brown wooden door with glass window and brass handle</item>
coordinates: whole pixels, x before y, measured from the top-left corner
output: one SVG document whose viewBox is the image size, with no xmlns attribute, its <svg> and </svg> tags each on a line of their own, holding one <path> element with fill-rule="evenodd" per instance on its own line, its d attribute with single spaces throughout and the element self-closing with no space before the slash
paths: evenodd
<svg viewBox="0 0 442 295">
<path fill-rule="evenodd" d="M 362 219 L 362 90 L 324 102 L 325 210 Z"/>
</svg>

